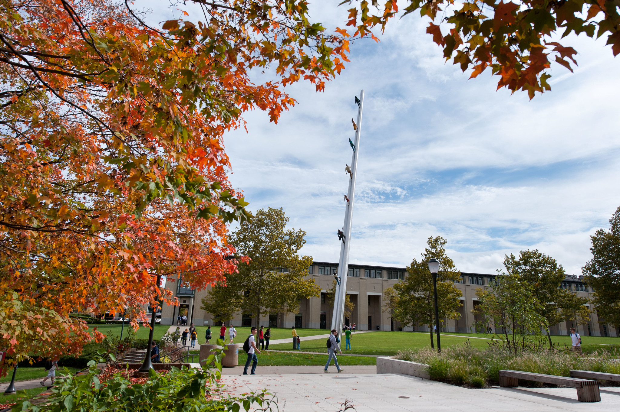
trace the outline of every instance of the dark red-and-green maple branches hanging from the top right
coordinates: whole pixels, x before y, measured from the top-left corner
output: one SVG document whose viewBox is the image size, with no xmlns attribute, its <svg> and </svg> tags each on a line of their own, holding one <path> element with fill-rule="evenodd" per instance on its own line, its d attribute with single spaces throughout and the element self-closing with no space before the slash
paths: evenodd
<svg viewBox="0 0 620 412">
<path fill-rule="evenodd" d="M 354 36 L 373 27 L 383 30 L 399 15 L 396 3 L 362 0 L 349 10 L 347 25 Z M 408 0 L 402 15 L 419 12 L 430 18 L 427 33 L 443 47 L 446 61 L 471 69 L 471 77 L 489 68 L 500 76 L 497 88 L 523 90 L 533 98 L 551 90 L 552 61 L 570 71 L 577 64 L 577 51 L 562 40 L 570 33 L 606 38 L 614 56 L 620 53 L 618 7 L 611 0 Z"/>
</svg>

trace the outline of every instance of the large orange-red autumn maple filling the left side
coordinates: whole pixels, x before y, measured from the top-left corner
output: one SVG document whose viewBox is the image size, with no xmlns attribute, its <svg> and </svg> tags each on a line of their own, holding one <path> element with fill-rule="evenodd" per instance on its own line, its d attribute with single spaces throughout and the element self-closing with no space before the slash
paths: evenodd
<svg viewBox="0 0 620 412">
<path fill-rule="evenodd" d="M 347 59 L 306 2 L 201 7 L 205 21 L 156 28 L 127 2 L 0 1 L 0 350 L 14 361 L 79 351 L 91 335 L 71 312 L 174 303 L 160 275 L 205 288 L 235 272 L 227 225 L 250 215 L 224 132 L 252 108 L 277 121 L 284 85 L 321 90 Z M 254 84 L 253 67 L 277 78 Z"/>
</svg>

